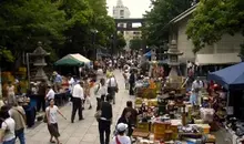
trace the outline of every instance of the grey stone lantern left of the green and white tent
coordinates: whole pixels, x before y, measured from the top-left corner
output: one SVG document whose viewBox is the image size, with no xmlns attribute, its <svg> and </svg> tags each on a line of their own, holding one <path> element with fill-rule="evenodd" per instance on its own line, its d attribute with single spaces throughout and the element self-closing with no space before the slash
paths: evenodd
<svg viewBox="0 0 244 144">
<path fill-rule="evenodd" d="M 47 65 L 44 58 L 50 55 L 50 53 L 42 49 L 42 42 L 38 42 L 38 48 L 33 51 L 33 53 L 30 53 L 30 55 L 34 59 L 33 65 L 37 68 L 37 73 L 32 80 L 48 80 L 43 68 Z"/>
</svg>

